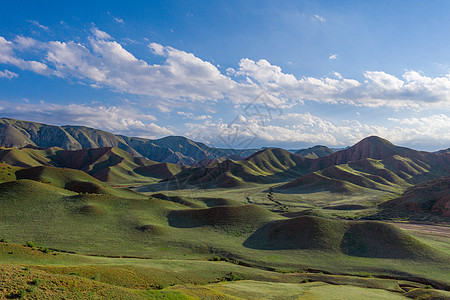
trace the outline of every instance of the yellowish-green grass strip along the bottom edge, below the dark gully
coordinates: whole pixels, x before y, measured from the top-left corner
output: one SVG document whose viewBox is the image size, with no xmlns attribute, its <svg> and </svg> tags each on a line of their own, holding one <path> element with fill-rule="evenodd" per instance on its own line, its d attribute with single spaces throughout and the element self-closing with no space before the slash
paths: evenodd
<svg viewBox="0 0 450 300">
<path fill-rule="evenodd" d="M 0 242 L 0 297 L 260 299 L 314 296 L 421 299 L 448 292 L 360 273 L 286 273 L 224 261 L 82 256 Z M 331 293 L 331 294 L 330 294 Z M 413 293 L 413 294 L 412 294 Z"/>
</svg>

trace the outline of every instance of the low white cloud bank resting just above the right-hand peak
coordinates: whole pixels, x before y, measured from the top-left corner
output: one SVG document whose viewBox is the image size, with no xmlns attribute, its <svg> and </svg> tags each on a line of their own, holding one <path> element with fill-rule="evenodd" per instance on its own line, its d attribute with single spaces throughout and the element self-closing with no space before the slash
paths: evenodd
<svg viewBox="0 0 450 300">
<path fill-rule="evenodd" d="M 386 123 L 395 123 L 392 127 L 362 124 L 357 120 L 344 120 L 336 124 L 310 113 L 288 113 L 277 121 L 264 125 L 240 115 L 230 123 L 221 119 L 207 120 L 202 124 L 188 123 L 184 134 L 214 146 L 231 148 L 241 148 L 242 145 L 247 148 L 267 145 L 295 147 L 305 144 L 343 147 L 371 135 L 428 150 L 448 147 L 450 143 L 450 117 L 444 114 L 386 120 Z"/>
</svg>

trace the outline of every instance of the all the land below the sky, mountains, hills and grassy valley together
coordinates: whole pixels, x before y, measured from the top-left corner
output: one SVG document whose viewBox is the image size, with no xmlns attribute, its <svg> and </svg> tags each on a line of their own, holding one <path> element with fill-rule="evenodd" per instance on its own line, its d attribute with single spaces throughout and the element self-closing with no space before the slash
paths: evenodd
<svg viewBox="0 0 450 300">
<path fill-rule="evenodd" d="M 372 136 L 237 155 L 1 124 L 0 297 L 450 297 L 448 152 Z"/>
</svg>

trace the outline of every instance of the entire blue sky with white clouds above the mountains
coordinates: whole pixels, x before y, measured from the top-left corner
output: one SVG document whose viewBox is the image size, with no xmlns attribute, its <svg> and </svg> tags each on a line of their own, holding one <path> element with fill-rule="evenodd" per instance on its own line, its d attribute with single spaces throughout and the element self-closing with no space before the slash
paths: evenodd
<svg viewBox="0 0 450 300">
<path fill-rule="evenodd" d="M 450 1 L 0 2 L 0 117 L 214 147 L 450 147 Z"/>
</svg>

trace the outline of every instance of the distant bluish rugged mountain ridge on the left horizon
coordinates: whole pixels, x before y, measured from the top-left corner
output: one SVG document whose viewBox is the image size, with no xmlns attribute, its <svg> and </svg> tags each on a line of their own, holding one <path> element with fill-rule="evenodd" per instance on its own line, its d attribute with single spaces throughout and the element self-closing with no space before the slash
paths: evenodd
<svg viewBox="0 0 450 300">
<path fill-rule="evenodd" d="M 117 147 L 133 156 L 181 165 L 193 165 L 204 158 L 250 155 L 249 150 L 216 149 L 181 136 L 150 140 L 116 135 L 84 126 L 53 126 L 0 119 L 0 146 L 22 148 L 27 145 L 66 150 Z"/>
</svg>

